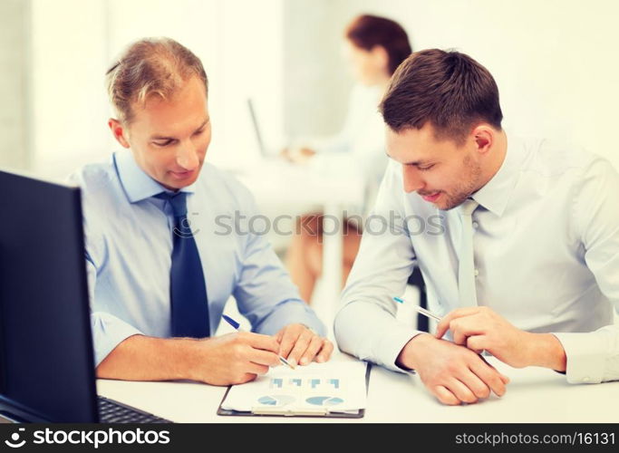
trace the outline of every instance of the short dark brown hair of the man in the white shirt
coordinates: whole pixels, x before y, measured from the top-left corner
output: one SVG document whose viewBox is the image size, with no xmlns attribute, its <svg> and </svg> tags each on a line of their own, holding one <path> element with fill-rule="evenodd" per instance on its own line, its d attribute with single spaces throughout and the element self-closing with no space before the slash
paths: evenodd
<svg viewBox="0 0 619 453">
<path fill-rule="evenodd" d="M 503 120 L 492 74 L 469 55 L 440 49 L 412 53 L 401 63 L 379 109 L 395 132 L 430 121 L 438 138 L 457 143 L 475 124 L 500 130 Z"/>
</svg>

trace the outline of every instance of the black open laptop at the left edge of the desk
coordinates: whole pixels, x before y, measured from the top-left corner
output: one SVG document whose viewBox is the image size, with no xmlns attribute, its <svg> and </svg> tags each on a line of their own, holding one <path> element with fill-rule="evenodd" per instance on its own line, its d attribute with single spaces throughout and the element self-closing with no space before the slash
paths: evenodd
<svg viewBox="0 0 619 453">
<path fill-rule="evenodd" d="M 98 397 L 80 188 L 0 170 L 0 415 L 164 423 Z"/>
</svg>

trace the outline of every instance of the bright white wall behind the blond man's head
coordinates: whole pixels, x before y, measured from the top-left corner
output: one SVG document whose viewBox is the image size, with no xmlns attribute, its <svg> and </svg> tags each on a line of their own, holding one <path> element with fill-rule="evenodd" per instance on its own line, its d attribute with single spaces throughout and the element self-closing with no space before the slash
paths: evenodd
<svg viewBox="0 0 619 453">
<path fill-rule="evenodd" d="M 223 166 L 257 157 L 247 114 L 255 98 L 281 125 L 283 0 L 32 0 L 33 169 L 63 176 L 118 149 L 104 73 L 129 43 L 169 36 L 198 55 L 208 74 L 213 143 Z M 281 135 L 267 128 L 266 139 Z"/>
</svg>

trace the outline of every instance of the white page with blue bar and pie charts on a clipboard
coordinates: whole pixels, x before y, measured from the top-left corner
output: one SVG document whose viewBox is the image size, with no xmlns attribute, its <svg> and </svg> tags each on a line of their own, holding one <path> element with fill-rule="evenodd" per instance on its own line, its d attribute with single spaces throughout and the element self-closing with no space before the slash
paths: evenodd
<svg viewBox="0 0 619 453">
<path fill-rule="evenodd" d="M 222 409 L 256 414 L 319 415 L 357 413 L 365 409 L 364 361 L 327 361 L 271 368 L 255 381 L 235 385 Z"/>
</svg>

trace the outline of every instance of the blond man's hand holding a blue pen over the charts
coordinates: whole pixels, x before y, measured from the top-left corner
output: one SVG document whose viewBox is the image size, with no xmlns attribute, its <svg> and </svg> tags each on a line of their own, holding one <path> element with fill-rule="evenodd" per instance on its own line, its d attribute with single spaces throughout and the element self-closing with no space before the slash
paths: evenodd
<svg viewBox="0 0 619 453">
<path fill-rule="evenodd" d="M 279 343 L 269 335 L 237 332 L 198 340 L 188 352 L 190 379 L 213 385 L 242 384 L 280 364 Z"/>
</svg>

